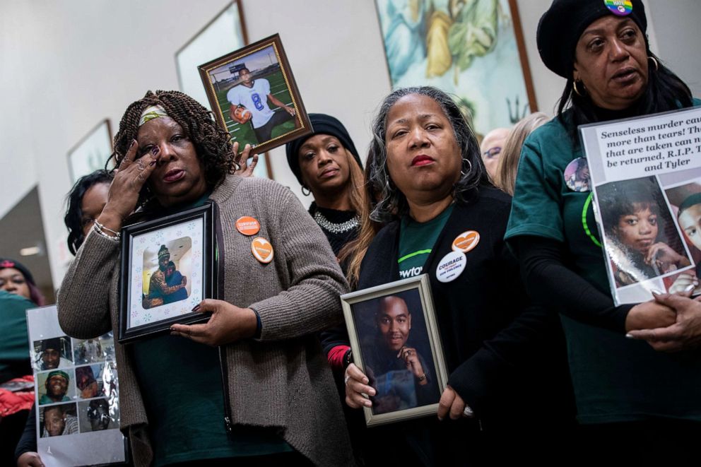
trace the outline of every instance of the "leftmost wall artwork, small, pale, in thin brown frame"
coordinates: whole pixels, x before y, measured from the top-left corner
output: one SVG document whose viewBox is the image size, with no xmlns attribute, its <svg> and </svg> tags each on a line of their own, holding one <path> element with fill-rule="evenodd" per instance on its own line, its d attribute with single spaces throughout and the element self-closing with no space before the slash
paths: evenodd
<svg viewBox="0 0 701 467">
<path fill-rule="evenodd" d="M 105 168 L 112 155 L 112 129 L 110 120 L 104 119 L 68 152 L 68 167 L 71 184 L 83 175 Z"/>
</svg>

